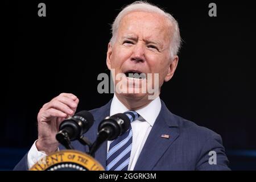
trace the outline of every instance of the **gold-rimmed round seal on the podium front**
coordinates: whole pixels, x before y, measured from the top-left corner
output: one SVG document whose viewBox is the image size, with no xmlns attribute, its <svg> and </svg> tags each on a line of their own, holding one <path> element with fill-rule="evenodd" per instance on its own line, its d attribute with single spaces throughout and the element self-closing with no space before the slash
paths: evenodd
<svg viewBox="0 0 256 182">
<path fill-rule="evenodd" d="M 88 154 L 62 150 L 39 160 L 30 171 L 104 171 L 104 167 Z"/>
</svg>

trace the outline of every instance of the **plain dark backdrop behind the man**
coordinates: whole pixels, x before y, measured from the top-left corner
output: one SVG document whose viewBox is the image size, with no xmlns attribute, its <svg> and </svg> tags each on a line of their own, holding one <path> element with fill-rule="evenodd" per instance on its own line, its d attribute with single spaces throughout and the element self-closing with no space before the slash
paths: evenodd
<svg viewBox="0 0 256 182">
<path fill-rule="evenodd" d="M 46 17 L 38 3 L 46 3 Z M 5 1 L 1 55 L 0 169 L 12 169 L 34 143 L 42 105 L 62 92 L 77 110 L 100 107 L 108 73 L 110 24 L 133 1 Z M 179 22 L 183 46 L 160 98 L 177 115 L 222 136 L 232 169 L 256 169 L 255 7 L 251 1 L 148 1 Z M 209 3 L 217 17 L 209 17 Z"/>
</svg>

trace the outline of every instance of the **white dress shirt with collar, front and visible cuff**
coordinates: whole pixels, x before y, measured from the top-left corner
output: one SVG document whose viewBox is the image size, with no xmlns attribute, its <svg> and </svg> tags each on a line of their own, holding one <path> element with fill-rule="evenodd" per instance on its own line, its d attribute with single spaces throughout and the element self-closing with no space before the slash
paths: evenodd
<svg viewBox="0 0 256 182">
<path fill-rule="evenodd" d="M 110 115 L 114 115 L 117 113 L 124 113 L 125 111 L 128 111 L 128 110 L 129 109 L 127 109 L 125 105 L 123 105 L 122 102 L 119 101 L 114 94 L 114 97 L 110 106 Z M 130 162 L 128 166 L 129 171 L 133 171 L 135 164 L 139 158 L 139 154 L 141 154 L 144 143 L 146 142 L 148 134 L 150 133 L 152 126 L 154 125 L 155 120 L 158 117 L 158 114 L 160 113 L 160 110 L 161 110 L 161 101 L 159 97 L 151 101 L 150 104 L 148 104 L 146 107 L 143 107 L 142 109 L 139 109 L 139 110 L 135 110 L 140 115 L 140 117 L 131 123 L 131 129 L 133 130 L 133 144 L 131 148 L 131 156 L 130 156 Z M 44 154 L 43 152 L 38 151 L 35 143 L 36 142 L 34 142 L 32 147 L 30 148 L 30 151 L 28 151 L 28 155 L 27 155 L 28 168 L 31 168 L 32 166 L 34 166 L 36 162 L 38 162 L 40 159 L 46 156 L 46 154 Z M 110 145 L 110 141 L 108 141 L 108 149 L 107 149 L 108 151 L 109 151 L 109 145 Z"/>
</svg>

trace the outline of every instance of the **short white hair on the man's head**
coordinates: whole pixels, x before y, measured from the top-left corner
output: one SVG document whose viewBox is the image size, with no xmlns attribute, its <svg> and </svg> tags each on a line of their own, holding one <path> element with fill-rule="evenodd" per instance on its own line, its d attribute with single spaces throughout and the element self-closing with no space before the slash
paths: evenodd
<svg viewBox="0 0 256 182">
<path fill-rule="evenodd" d="M 170 37 L 170 53 L 171 53 L 171 57 L 174 55 L 177 55 L 177 53 L 179 52 L 180 49 L 180 44 L 181 44 L 181 38 L 180 38 L 180 31 L 179 31 L 179 24 L 177 23 L 177 21 L 174 19 L 174 17 L 169 14 L 166 13 L 164 10 L 160 9 L 159 7 L 155 6 L 155 5 L 151 5 L 148 2 L 144 2 L 144 1 L 135 1 L 133 3 L 131 3 L 130 5 L 127 5 L 115 18 L 113 24 L 112 24 L 112 38 L 110 39 L 110 44 L 113 45 L 113 43 L 115 42 L 116 36 L 117 36 L 117 31 L 118 31 L 118 27 L 119 24 L 122 20 L 122 18 L 133 12 L 133 11 L 146 11 L 149 13 L 157 13 L 160 15 L 163 15 L 164 17 L 167 18 L 168 22 L 170 22 L 171 27 L 173 28 L 173 32 Z M 172 30 L 171 30 L 172 31 Z"/>
</svg>

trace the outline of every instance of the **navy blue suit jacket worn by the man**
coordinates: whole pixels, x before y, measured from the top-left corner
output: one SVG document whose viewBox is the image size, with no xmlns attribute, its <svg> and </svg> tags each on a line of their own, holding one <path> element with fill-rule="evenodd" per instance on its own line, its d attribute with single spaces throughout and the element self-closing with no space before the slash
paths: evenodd
<svg viewBox="0 0 256 182">
<path fill-rule="evenodd" d="M 205 127 L 172 114 L 161 101 L 162 108 L 139 155 L 134 170 L 229 170 L 228 159 L 220 135 Z M 85 134 L 94 142 L 98 124 L 110 114 L 111 101 L 91 110 L 95 123 Z M 161 137 L 162 134 L 170 138 Z M 72 142 L 76 150 L 85 151 L 79 142 Z M 60 150 L 64 149 L 60 146 Z M 209 164 L 209 152 L 215 151 L 217 164 Z M 106 167 L 107 142 L 96 152 L 95 158 Z M 14 170 L 27 170 L 27 155 Z"/>
</svg>

